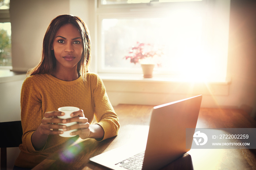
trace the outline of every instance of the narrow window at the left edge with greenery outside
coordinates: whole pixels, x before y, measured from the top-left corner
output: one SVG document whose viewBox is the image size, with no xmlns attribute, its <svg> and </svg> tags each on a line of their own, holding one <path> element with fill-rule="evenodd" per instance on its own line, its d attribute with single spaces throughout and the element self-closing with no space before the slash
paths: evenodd
<svg viewBox="0 0 256 170">
<path fill-rule="evenodd" d="M 11 68 L 10 0 L 0 1 L 0 67 Z"/>
</svg>

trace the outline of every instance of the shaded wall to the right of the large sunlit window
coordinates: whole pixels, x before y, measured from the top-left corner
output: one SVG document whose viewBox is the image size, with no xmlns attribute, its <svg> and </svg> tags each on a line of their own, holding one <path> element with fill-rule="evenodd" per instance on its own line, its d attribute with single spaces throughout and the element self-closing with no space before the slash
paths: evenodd
<svg viewBox="0 0 256 170">
<path fill-rule="evenodd" d="M 256 1 L 231 1 L 227 100 L 256 116 Z M 256 117 L 255 117 L 256 119 Z"/>
</svg>

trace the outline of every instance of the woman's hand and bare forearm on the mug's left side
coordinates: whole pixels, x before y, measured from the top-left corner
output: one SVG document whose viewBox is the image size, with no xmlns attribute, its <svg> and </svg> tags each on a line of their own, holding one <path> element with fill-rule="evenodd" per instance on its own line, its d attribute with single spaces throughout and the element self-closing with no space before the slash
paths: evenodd
<svg viewBox="0 0 256 170">
<path fill-rule="evenodd" d="M 38 151 L 44 148 L 48 135 L 59 135 L 63 133 L 66 126 L 59 125 L 59 123 L 65 123 L 66 120 L 57 117 L 63 115 L 64 113 L 60 111 L 45 112 L 41 124 L 31 136 L 31 142 L 35 150 Z"/>
</svg>

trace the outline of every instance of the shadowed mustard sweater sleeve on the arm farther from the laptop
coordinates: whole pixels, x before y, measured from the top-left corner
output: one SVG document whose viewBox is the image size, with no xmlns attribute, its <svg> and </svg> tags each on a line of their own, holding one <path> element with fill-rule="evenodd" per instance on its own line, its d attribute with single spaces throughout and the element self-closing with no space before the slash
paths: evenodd
<svg viewBox="0 0 256 170">
<path fill-rule="evenodd" d="M 30 77 L 23 82 L 20 98 L 21 121 L 22 121 L 22 144 L 25 151 L 29 153 L 38 153 L 31 142 L 31 136 L 42 120 L 42 102 L 38 87 Z"/>
</svg>

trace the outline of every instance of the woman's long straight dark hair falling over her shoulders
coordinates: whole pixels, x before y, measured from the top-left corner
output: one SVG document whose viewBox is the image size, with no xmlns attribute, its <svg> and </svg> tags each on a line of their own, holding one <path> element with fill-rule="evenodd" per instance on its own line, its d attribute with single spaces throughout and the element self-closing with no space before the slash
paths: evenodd
<svg viewBox="0 0 256 170">
<path fill-rule="evenodd" d="M 60 27 L 65 24 L 73 24 L 78 28 L 83 39 L 83 53 L 82 58 L 78 62 L 77 72 L 85 81 L 86 73 L 88 72 L 88 65 L 91 59 L 91 42 L 90 34 L 86 24 L 77 16 L 72 15 L 59 15 L 52 20 L 49 24 L 43 41 L 42 56 L 39 64 L 33 69 L 29 70 L 28 75 L 35 74 L 51 74 L 56 66 L 56 58 L 54 51 L 51 50 L 54 36 Z"/>
</svg>

